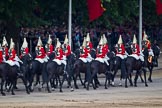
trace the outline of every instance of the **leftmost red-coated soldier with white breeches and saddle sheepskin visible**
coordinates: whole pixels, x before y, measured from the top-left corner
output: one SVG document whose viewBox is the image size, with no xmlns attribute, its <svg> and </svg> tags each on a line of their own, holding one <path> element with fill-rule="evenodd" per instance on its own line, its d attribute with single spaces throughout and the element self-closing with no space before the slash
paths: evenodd
<svg viewBox="0 0 162 108">
<path fill-rule="evenodd" d="M 6 63 L 8 63 L 10 66 L 18 66 L 20 67 L 20 64 L 18 61 L 20 61 L 19 59 L 17 59 L 17 55 L 16 55 L 16 50 L 15 50 L 15 43 L 13 42 L 12 38 L 10 41 L 10 49 L 9 49 L 9 59 L 6 61 Z M 20 61 L 21 62 L 21 61 Z"/>
</svg>

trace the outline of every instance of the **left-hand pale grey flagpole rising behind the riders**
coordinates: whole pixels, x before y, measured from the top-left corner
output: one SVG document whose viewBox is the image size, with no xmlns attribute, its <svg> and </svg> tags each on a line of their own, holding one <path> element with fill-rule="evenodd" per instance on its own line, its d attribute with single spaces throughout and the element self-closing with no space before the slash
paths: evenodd
<svg viewBox="0 0 162 108">
<path fill-rule="evenodd" d="M 68 27 L 68 39 L 69 45 L 72 46 L 72 39 L 71 39 L 71 28 L 72 28 L 72 0 L 69 0 L 69 27 Z M 72 48 L 72 47 L 71 47 Z"/>
</svg>

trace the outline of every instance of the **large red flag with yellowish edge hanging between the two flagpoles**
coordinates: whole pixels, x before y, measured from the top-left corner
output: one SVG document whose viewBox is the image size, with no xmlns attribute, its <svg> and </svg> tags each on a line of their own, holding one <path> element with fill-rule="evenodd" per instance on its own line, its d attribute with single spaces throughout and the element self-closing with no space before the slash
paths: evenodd
<svg viewBox="0 0 162 108">
<path fill-rule="evenodd" d="M 87 4 L 90 21 L 97 19 L 105 11 L 100 0 L 87 0 Z"/>
</svg>

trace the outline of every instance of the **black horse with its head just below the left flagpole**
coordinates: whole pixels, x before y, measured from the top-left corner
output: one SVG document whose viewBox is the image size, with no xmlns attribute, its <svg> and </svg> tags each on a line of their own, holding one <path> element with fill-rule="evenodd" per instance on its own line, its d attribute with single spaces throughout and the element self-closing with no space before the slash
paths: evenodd
<svg viewBox="0 0 162 108">
<path fill-rule="evenodd" d="M 62 85 L 63 85 L 64 81 L 67 80 L 68 86 L 70 86 L 71 91 L 73 91 L 73 88 L 71 86 L 71 80 L 72 80 L 72 76 L 73 76 L 74 61 L 75 61 L 75 55 L 72 53 L 67 57 L 67 66 L 66 66 L 67 72 L 64 72 L 64 64 L 58 65 L 54 61 L 49 61 L 47 63 L 47 67 L 46 67 L 47 68 L 46 83 L 51 80 L 58 80 L 59 86 L 60 86 L 60 92 L 63 92 Z M 60 78 L 61 76 L 63 76 L 62 80 Z M 53 85 L 52 85 L 52 87 L 53 87 Z M 50 90 L 50 89 L 48 88 L 48 90 Z"/>
</svg>

